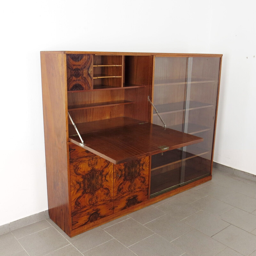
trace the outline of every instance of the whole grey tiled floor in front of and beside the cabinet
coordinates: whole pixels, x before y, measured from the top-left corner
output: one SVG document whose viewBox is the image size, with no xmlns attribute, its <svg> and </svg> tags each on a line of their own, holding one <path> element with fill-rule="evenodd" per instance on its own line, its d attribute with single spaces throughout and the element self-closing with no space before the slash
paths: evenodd
<svg viewBox="0 0 256 256">
<path fill-rule="evenodd" d="M 256 256 L 256 182 L 212 180 L 73 238 L 50 219 L 0 236 L 0 256 Z"/>
</svg>

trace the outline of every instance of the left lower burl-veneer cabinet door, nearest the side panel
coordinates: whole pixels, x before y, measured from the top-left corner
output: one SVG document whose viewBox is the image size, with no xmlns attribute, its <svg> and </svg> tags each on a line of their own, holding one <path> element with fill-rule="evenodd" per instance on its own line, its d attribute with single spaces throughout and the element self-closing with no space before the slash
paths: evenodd
<svg viewBox="0 0 256 256">
<path fill-rule="evenodd" d="M 113 164 L 76 145 L 69 151 L 74 229 L 113 213 Z"/>
</svg>

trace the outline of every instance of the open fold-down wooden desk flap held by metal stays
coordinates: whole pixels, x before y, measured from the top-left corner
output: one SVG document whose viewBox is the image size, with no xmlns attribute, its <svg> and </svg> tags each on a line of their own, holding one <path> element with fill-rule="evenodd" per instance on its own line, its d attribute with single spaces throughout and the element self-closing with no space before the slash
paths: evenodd
<svg viewBox="0 0 256 256">
<path fill-rule="evenodd" d="M 81 137 L 84 140 L 84 149 L 113 164 L 155 155 L 162 152 L 159 148 L 161 146 L 172 150 L 203 141 L 200 137 L 151 123 L 90 132 L 81 134 Z M 69 136 L 69 141 L 76 145 L 81 142 L 78 135 Z"/>
</svg>

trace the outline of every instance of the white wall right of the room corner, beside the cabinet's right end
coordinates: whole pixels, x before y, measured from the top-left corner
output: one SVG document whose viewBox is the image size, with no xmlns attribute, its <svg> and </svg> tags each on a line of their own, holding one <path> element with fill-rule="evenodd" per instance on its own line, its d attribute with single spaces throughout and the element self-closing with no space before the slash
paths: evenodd
<svg viewBox="0 0 256 256">
<path fill-rule="evenodd" d="M 214 161 L 256 175 L 256 15 L 252 3 L 214 1 L 210 52 L 223 53 Z"/>
</svg>

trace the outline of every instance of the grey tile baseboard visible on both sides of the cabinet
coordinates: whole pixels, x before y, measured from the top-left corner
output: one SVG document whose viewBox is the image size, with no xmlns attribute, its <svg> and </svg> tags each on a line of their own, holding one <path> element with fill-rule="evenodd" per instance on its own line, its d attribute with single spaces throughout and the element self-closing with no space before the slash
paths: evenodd
<svg viewBox="0 0 256 256">
<path fill-rule="evenodd" d="M 240 170 L 237 170 L 237 169 L 234 169 L 234 168 L 231 168 L 231 167 L 228 167 L 226 165 L 219 164 L 216 162 L 213 162 L 213 167 L 218 168 L 220 171 L 228 172 L 228 173 L 234 174 L 238 177 L 241 177 L 241 178 L 244 178 L 247 180 L 256 181 L 256 175 L 248 173 L 248 172 L 243 172 L 243 171 L 240 171 Z M 14 229 L 22 228 L 24 226 L 27 226 L 29 224 L 32 224 L 34 222 L 44 220 L 47 218 L 49 218 L 48 210 L 30 215 L 30 216 L 22 218 L 20 220 L 15 220 L 13 222 L 10 222 L 8 224 L 4 224 L 4 225 L 0 226 L 0 235 L 3 235 L 5 233 L 8 233 L 8 232 L 14 230 Z"/>
</svg>

